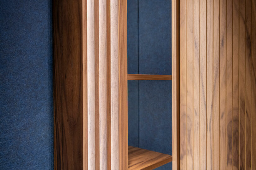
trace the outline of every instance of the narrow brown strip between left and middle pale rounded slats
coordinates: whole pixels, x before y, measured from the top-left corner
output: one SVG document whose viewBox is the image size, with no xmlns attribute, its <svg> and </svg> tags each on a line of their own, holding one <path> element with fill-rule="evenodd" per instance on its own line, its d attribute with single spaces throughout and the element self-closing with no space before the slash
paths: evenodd
<svg viewBox="0 0 256 170">
<path fill-rule="evenodd" d="M 99 1 L 94 1 L 95 170 L 100 169 Z"/>
</svg>

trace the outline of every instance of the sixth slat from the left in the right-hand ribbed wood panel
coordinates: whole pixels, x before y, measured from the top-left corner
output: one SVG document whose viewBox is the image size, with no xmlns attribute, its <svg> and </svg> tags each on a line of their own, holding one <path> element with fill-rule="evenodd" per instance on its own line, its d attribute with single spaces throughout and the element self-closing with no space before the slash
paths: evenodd
<svg viewBox="0 0 256 170">
<path fill-rule="evenodd" d="M 213 169 L 220 168 L 220 1 L 213 1 Z"/>
</svg>

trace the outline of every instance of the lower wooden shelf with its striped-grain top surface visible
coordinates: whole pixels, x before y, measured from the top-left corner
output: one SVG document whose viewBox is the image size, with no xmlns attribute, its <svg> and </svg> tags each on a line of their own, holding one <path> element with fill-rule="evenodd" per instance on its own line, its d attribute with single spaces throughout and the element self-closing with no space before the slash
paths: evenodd
<svg viewBox="0 0 256 170">
<path fill-rule="evenodd" d="M 172 161 L 172 156 L 128 146 L 128 169 L 154 169 Z"/>
</svg>

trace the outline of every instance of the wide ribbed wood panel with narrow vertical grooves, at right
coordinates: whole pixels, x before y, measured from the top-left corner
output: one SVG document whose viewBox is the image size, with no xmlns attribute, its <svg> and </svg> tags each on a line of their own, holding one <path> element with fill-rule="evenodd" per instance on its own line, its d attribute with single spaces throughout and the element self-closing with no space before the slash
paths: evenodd
<svg viewBox="0 0 256 170">
<path fill-rule="evenodd" d="M 180 0 L 180 169 L 256 168 L 253 0 Z"/>
</svg>

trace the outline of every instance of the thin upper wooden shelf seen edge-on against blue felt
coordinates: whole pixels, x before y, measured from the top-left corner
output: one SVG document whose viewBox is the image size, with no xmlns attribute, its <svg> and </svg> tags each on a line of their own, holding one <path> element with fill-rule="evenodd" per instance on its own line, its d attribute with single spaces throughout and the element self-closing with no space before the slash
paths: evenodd
<svg viewBox="0 0 256 170">
<path fill-rule="evenodd" d="M 128 80 L 172 80 L 172 75 L 128 74 Z"/>
</svg>

